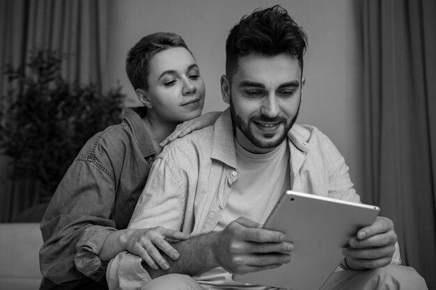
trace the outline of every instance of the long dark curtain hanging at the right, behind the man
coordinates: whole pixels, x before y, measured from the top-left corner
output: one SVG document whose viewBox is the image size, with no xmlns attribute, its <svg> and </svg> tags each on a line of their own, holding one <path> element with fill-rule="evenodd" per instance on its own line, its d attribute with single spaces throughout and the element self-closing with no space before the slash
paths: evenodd
<svg viewBox="0 0 436 290">
<path fill-rule="evenodd" d="M 368 199 L 436 289 L 436 1 L 359 2 Z"/>
</svg>

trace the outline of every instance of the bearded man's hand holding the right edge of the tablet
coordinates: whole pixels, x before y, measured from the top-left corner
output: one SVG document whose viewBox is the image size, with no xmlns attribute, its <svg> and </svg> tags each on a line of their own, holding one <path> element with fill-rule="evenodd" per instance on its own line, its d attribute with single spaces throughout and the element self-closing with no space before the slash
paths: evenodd
<svg viewBox="0 0 436 290">
<path fill-rule="evenodd" d="M 394 223 L 379 216 L 372 225 L 360 229 L 342 253 L 352 269 L 380 268 L 391 262 L 396 241 Z"/>
</svg>

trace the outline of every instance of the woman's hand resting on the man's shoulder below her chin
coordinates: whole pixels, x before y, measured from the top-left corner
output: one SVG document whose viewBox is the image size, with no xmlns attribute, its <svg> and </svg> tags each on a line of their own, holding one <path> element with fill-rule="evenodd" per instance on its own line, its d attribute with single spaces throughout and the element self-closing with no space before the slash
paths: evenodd
<svg viewBox="0 0 436 290">
<path fill-rule="evenodd" d="M 165 138 L 161 143 L 159 143 L 160 147 L 165 147 L 168 143 L 173 142 L 177 138 L 182 138 L 192 131 L 202 129 L 204 127 L 208 127 L 213 124 L 221 112 L 210 112 L 201 115 L 200 117 L 187 120 L 178 124 L 176 129 L 171 133 L 168 137 Z"/>
</svg>

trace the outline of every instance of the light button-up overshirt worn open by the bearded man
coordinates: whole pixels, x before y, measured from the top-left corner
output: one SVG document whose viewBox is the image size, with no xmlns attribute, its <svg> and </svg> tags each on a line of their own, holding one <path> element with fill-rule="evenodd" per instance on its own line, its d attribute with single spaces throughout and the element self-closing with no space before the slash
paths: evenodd
<svg viewBox="0 0 436 290">
<path fill-rule="evenodd" d="M 293 191 L 360 202 L 343 156 L 316 127 L 288 132 Z M 161 225 L 182 232 L 211 232 L 238 180 L 233 126 L 226 110 L 213 126 L 166 146 L 157 157 L 129 227 Z M 107 269 L 109 289 L 137 289 L 150 280 L 141 258 L 122 252 Z"/>
</svg>

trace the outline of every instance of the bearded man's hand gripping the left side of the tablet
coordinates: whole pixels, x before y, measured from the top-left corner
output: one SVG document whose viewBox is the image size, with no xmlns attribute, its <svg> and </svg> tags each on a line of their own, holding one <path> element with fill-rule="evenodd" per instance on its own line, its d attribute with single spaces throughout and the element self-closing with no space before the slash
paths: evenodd
<svg viewBox="0 0 436 290">
<path fill-rule="evenodd" d="M 249 273 L 277 268 L 290 261 L 292 243 L 283 241 L 285 235 L 248 218 L 233 220 L 212 244 L 215 260 L 229 273 Z"/>
</svg>

